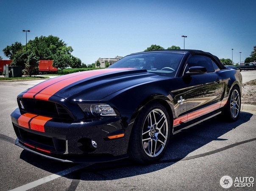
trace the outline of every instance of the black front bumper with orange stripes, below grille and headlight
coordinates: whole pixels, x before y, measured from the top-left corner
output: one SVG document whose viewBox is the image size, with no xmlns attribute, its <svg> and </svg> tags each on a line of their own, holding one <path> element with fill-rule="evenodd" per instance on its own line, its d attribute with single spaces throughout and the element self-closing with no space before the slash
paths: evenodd
<svg viewBox="0 0 256 191">
<path fill-rule="evenodd" d="M 18 108 L 14 110 L 11 120 L 18 137 L 16 145 L 62 162 L 113 161 L 127 157 L 133 123 L 125 127 L 122 117 L 79 123 L 63 123 L 43 116 L 41 118 L 47 120 L 42 121 L 40 117 L 29 119 L 21 115 Z M 121 133 L 125 136 L 108 138 Z M 89 144 L 91 140 L 97 143 L 96 149 Z"/>
</svg>

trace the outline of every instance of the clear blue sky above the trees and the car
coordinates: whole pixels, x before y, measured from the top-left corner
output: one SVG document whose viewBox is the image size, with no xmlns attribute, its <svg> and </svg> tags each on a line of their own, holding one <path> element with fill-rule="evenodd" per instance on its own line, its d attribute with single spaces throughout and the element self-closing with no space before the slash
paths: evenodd
<svg viewBox="0 0 256 191">
<path fill-rule="evenodd" d="M 239 62 L 256 46 L 256 0 L 1 0 L 0 56 L 15 41 L 55 35 L 91 64 L 151 44 L 211 52 Z"/>
</svg>

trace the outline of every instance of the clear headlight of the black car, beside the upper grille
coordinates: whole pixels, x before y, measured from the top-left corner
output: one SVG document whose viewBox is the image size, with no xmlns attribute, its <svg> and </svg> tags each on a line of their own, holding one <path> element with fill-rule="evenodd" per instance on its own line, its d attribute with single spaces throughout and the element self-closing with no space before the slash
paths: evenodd
<svg viewBox="0 0 256 191">
<path fill-rule="evenodd" d="M 117 116 L 114 109 L 108 104 L 78 104 L 83 112 L 89 117 L 97 116 Z"/>
</svg>

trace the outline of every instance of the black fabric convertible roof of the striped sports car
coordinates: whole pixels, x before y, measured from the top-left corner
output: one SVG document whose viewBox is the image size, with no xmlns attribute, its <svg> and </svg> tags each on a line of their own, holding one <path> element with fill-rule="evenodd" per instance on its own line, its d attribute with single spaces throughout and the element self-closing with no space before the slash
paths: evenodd
<svg viewBox="0 0 256 191">
<path fill-rule="evenodd" d="M 222 69 L 227 69 L 221 62 L 220 59 L 217 56 L 212 55 L 210 52 L 204 52 L 202 50 L 193 50 L 193 49 L 171 49 L 171 50 L 153 50 L 153 51 L 147 51 L 147 52 L 184 52 L 184 53 L 190 53 L 191 55 L 202 55 L 202 56 L 208 56 L 212 60 L 214 60 Z M 138 52 L 138 53 L 147 53 L 147 52 Z M 134 53 L 134 54 L 138 54 Z M 131 54 L 133 55 L 133 54 Z"/>
</svg>

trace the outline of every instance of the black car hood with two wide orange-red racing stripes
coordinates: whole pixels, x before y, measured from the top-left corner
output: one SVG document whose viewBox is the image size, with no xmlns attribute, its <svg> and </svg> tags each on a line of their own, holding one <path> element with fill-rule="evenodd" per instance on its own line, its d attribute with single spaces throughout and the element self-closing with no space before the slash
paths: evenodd
<svg viewBox="0 0 256 191">
<path fill-rule="evenodd" d="M 25 91 L 23 97 L 49 100 L 51 96 L 58 96 L 70 102 L 99 101 L 112 93 L 159 77 L 147 70 L 133 68 L 78 72 L 42 82 Z"/>
</svg>

